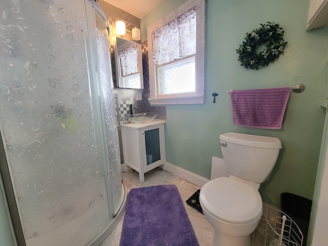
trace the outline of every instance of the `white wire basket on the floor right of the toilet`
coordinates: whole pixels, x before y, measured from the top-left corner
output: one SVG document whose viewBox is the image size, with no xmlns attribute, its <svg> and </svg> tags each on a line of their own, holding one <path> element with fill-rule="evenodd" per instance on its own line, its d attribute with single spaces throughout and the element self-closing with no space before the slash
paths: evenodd
<svg viewBox="0 0 328 246">
<path fill-rule="evenodd" d="M 303 234 L 288 215 L 267 209 L 265 220 L 265 246 L 302 246 Z"/>
</svg>

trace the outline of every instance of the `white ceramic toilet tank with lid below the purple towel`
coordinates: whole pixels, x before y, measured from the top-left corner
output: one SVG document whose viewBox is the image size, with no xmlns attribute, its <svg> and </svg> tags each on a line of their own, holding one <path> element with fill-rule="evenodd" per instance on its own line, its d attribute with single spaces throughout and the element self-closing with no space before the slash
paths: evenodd
<svg viewBox="0 0 328 246">
<path fill-rule="evenodd" d="M 221 134 L 220 145 L 230 174 L 257 183 L 270 175 L 281 149 L 276 137 L 233 132 Z"/>
</svg>

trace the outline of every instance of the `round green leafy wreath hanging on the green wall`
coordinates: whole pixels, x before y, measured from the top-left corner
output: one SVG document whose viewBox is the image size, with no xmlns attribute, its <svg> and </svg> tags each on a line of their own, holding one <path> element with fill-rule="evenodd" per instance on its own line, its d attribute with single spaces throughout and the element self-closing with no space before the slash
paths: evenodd
<svg viewBox="0 0 328 246">
<path fill-rule="evenodd" d="M 247 69 L 258 70 L 268 66 L 283 53 L 287 45 L 287 42 L 283 40 L 284 31 L 279 24 L 267 22 L 260 25 L 261 28 L 253 30 L 252 33 L 246 33 L 242 45 L 236 49 L 240 66 Z M 266 49 L 258 51 L 261 45 L 265 45 Z"/>
</svg>

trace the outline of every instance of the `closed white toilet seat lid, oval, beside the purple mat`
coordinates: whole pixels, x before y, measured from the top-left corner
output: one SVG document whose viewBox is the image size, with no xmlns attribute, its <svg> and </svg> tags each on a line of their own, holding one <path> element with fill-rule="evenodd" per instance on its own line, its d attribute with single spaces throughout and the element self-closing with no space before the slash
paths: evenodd
<svg viewBox="0 0 328 246">
<path fill-rule="evenodd" d="M 207 182 L 200 190 L 199 199 L 213 216 L 232 223 L 247 223 L 262 214 L 259 192 L 232 178 L 220 177 Z"/>
</svg>

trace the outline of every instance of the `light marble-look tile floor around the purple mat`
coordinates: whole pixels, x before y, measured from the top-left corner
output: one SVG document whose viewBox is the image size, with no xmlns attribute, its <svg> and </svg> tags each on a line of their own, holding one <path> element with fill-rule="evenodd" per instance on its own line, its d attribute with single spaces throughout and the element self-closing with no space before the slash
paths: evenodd
<svg viewBox="0 0 328 246">
<path fill-rule="evenodd" d="M 163 171 L 160 168 L 153 169 L 145 174 L 145 182 L 139 182 L 139 174 L 135 171 L 122 173 L 122 179 L 124 180 L 128 192 L 133 188 L 146 187 L 146 186 L 156 186 L 156 185 L 167 185 L 172 184 L 178 188 L 181 199 L 185 204 L 185 208 L 191 224 L 194 228 L 196 237 L 198 239 L 200 246 L 211 246 L 213 237 L 213 228 L 206 220 L 203 214 L 198 212 L 196 209 L 190 207 L 186 200 L 192 196 L 200 187 L 194 185 L 193 183 L 180 178 L 170 172 Z M 101 244 L 101 246 L 118 246 L 121 236 L 123 219 L 119 221 L 118 226 L 109 235 L 109 237 Z M 251 235 L 251 245 L 259 246 L 264 245 L 263 243 L 263 219 L 261 219 L 259 226 L 255 233 Z M 146 246 L 146 245 L 145 245 Z M 230 246 L 230 245 L 227 245 Z"/>
</svg>

